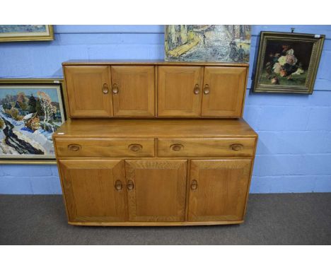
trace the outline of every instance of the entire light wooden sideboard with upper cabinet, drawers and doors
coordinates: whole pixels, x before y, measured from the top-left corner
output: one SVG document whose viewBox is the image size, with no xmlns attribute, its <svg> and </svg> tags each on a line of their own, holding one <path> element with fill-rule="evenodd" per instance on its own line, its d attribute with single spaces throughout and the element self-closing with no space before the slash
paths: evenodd
<svg viewBox="0 0 331 270">
<path fill-rule="evenodd" d="M 242 223 L 257 144 L 240 118 L 247 73 L 238 64 L 64 63 L 70 117 L 53 139 L 69 223 Z"/>
</svg>

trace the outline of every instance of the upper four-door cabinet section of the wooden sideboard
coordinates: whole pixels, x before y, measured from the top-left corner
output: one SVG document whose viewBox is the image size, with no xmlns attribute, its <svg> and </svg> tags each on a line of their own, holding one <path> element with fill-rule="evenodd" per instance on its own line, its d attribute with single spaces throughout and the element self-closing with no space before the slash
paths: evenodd
<svg viewBox="0 0 331 270">
<path fill-rule="evenodd" d="M 241 117 L 247 64 L 64 63 L 69 117 Z"/>
</svg>

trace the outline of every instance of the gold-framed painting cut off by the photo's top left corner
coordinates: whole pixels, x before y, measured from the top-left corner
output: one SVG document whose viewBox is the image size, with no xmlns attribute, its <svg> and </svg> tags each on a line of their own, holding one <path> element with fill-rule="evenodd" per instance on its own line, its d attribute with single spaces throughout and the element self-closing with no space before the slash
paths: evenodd
<svg viewBox="0 0 331 270">
<path fill-rule="evenodd" d="M 52 25 L 0 25 L 0 42 L 54 40 Z"/>
</svg>

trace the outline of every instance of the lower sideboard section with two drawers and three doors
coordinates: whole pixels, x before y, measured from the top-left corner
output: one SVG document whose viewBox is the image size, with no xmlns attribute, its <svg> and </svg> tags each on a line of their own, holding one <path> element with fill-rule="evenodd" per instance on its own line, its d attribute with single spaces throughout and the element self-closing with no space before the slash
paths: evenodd
<svg viewBox="0 0 331 270">
<path fill-rule="evenodd" d="M 54 146 L 69 223 L 242 223 L 256 141 L 242 119 L 66 122 Z"/>
</svg>

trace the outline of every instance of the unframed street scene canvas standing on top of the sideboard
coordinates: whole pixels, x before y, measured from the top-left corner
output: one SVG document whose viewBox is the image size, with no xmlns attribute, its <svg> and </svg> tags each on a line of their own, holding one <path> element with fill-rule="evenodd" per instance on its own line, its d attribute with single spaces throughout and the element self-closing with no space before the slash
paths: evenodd
<svg viewBox="0 0 331 270">
<path fill-rule="evenodd" d="M 247 63 L 250 25 L 166 25 L 166 61 Z"/>
</svg>

